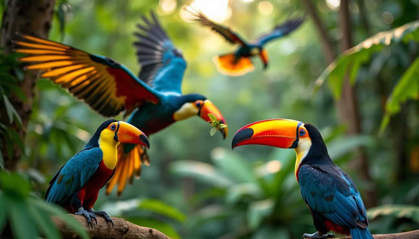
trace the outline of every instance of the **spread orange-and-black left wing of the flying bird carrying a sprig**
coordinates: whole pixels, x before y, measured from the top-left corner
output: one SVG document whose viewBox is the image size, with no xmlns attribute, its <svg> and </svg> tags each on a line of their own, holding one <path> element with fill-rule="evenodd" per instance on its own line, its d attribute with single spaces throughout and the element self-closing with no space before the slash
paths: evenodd
<svg viewBox="0 0 419 239">
<path fill-rule="evenodd" d="M 16 52 L 28 54 L 26 69 L 39 69 L 103 116 L 131 112 L 145 101 L 158 103 L 158 93 L 114 60 L 65 44 L 21 35 Z"/>
</svg>

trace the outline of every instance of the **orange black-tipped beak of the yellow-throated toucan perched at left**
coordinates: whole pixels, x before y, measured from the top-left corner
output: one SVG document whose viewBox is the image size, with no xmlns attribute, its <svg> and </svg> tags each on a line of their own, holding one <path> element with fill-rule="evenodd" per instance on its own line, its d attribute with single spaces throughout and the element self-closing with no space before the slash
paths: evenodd
<svg viewBox="0 0 419 239">
<path fill-rule="evenodd" d="M 146 146 L 147 149 L 150 148 L 147 136 L 137 127 L 124 121 L 118 121 L 117 127 L 115 132 L 116 141 L 127 144 L 141 144 Z"/>
</svg>

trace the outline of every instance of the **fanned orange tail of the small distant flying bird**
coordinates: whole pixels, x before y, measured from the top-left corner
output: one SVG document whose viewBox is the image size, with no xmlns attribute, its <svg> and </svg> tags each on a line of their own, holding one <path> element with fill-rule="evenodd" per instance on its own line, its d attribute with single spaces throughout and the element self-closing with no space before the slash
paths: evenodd
<svg viewBox="0 0 419 239">
<path fill-rule="evenodd" d="M 213 58 L 217 70 L 224 75 L 241 76 L 255 69 L 249 57 L 236 57 L 234 53 Z"/>
</svg>

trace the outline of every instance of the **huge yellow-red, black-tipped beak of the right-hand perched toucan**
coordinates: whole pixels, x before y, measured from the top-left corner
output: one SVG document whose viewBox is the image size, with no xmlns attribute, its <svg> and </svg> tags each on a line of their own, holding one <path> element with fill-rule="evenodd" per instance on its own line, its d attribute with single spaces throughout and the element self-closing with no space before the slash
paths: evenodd
<svg viewBox="0 0 419 239">
<path fill-rule="evenodd" d="M 303 122 L 290 119 L 270 119 L 248 124 L 233 137 L 231 147 L 260 144 L 284 149 L 298 146 L 298 128 Z"/>
</svg>

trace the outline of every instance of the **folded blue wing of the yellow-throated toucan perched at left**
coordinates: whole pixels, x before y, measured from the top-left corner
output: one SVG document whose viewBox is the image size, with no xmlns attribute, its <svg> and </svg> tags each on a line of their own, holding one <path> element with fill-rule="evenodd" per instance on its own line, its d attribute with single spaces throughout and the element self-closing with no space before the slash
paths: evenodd
<svg viewBox="0 0 419 239">
<path fill-rule="evenodd" d="M 45 200 L 48 203 L 62 203 L 71 197 L 96 172 L 102 156 L 102 150 L 97 147 L 85 149 L 74 155 L 49 182 Z"/>
</svg>

